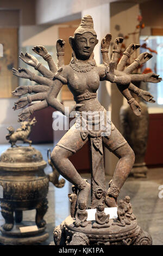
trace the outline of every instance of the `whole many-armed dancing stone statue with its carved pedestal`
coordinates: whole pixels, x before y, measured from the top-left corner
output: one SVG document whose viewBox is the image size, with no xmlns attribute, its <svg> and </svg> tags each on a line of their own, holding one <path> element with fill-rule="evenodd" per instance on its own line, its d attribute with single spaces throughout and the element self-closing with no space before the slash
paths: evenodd
<svg viewBox="0 0 163 256">
<path fill-rule="evenodd" d="M 161 78 L 153 73 L 146 75 L 131 74 L 137 66 L 147 62 L 147 60 L 152 57 L 152 54 L 149 53 L 140 54 L 139 57 L 126 68 L 128 58 L 133 54 L 136 48 L 140 47 L 140 45 L 129 45 L 118 63 L 123 38 L 115 39 L 110 60 L 108 56 L 111 41 L 110 34 L 107 34 L 105 38 L 102 39 L 101 52 L 103 64 L 97 65 L 93 58 L 93 50 L 98 43 L 98 40 L 96 32 L 93 29 L 93 21 L 90 15 L 83 17 L 80 26 L 74 32 L 74 36 L 70 36 L 69 41 L 72 47 L 72 59 L 70 64 L 64 65 L 65 42 L 59 39 L 57 41 L 58 65 L 55 65 L 52 56 L 47 52 L 45 47 L 35 46 L 33 48 L 34 52 L 38 53 L 48 62 L 50 70 L 47 70 L 32 55 L 28 53 L 21 53 L 20 55 L 20 58 L 24 62 L 33 66 L 43 75 L 43 77 L 35 75 L 28 69 L 13 69 L 14 75 L 28 78 L 39 84 L 36 86 L 20 86 L 12 92 L 14 96 L 34 93 L 31 96 L 21 97 L 15 102 L 15 110 L 25 107 L 32 101 L 39 100 L 39 102 L 23 110 L 19 115 L 19 121 L 28 118 L 34 111 L 48 106 L 52 106 L 64 115 L 67 115 L 68 113 L 65 112 L 64 105 L 57 100 L 57 95 L 63 84 L 67 84 L 76 101 L 76 106 L 71 109 L 70 113 L 73 110 L 77 111 L 77 121 L 61 138 L 51 154 L 53 165 L 64 178 L 74 185 L 74 195 L 77 195 L 75 197 L 77 202 L 73 202 L 72 204 L 73 208 L 76 207 L 76 210 L 72 209 L 71 211 L 76 212 L 76 215 L 69 216 L 68 221 L 66 221 L 66 219 L 60 227 L 55 229 L 55 243 L 85 244 L 97 243 L 97 241 L 102 240 L 103 243 L 108 245 L 115 243 L 113 242 L 115 241 L 115 237 L 111 234 L 115 234 L 116 232 L 116 239 L 119 235 L 121 237 L 121 239 L 117 239 L 117 243 L 126 244 L 126 239 L 128 239 L 129 236 L 134 237 L 134 239 L 135 237 L 139 237 L 140 240 L 140 236 L 145 237 L 145 235 L 141 235 L 142 231 L 138 228 L 139 226 L 137 226 L 135 219 L 131 220 L 130 215 L 127 214 L 129 209 L 125 206 L 125 202 L 120 202 L 119 204 L 120 210 L 118 210 L 117 223 L 114 222 L 114 225 L 112 225 L 113 221 L 109 220 L 109 215 L 105 215 L 104 213 L 104 206 L 108 206 L 109 208 L 117 207 L 117 197 L 134 164 L 134 152 L 108 118 L 106 110 L 97 100 L 96 92 L 99 88 L 100 81 L 106 80 L 111 83 L 116 83 L 120 92 L 126 97 L 133 112 L 136 115 L 140 115 L 141 107 L 131 96 L 130 90 L 147 102 L 154 102 L 154 100 L 149 92 L 137 88 L 132 82 L 143 81 L 158 83 L 161 81 Z M 89 112 L 87 117 L 83 114 L 85 112 Z M 92 120 L 91 129 L 89 126 L 90 120 Z M 85 129 L 83 129 L 80 121 L 82 124 L 85 124 Z M 101 125 L 101 123 L 103 125 Z M 98 129 L 97 125 L 98 127 L 100 125 Z M 89 182 L 82 179 L 76 168 L 74 168 L 73 164 L 68 159 L 82 148 L 88 140 L 91 142 L 92 151 L 91 185 Z M 105 186 L 103 145 L 119 159 L 113 178 L 109 183 L 108 190 L 106 190 Z M 86 206 L 90 189 L 90 207 L 97 209 L 96 224 L 91 222 L 86 223 Z M 124 209 L 121 210 L 123 205 Z M 121 223 L 122 225 L 118 225 L 118 223 Z M 128 225 L 127 230 L 126 225 Z M 99 227 L 101 227 L 101 229 L 99 229 Z M 128 232 L 127 235 L 125 234 L 125 231 L 128 230 L 132 231 L 131 233 Z M 85 235 L 83 235 L 83 233 L 85 233 Z M 92 234 L 96 233 L 98 237 L 96 237 L 96 235 L 93 237 Z M 151 237 L 147 234 L 146 236 L 148 237 L 148 241 L 145 243 L 151 243 Z M 69 240 L 66 241 L 67 237 Z M 130 243 L 136 244 L 136 239 L 134 239 L 131 240 Z"/>
</svg>

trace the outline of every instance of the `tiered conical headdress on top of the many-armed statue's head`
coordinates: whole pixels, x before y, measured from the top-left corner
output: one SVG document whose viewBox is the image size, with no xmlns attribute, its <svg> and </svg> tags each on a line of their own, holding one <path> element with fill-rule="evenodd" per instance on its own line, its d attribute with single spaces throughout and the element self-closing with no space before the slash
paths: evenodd
<svg viewBox="0 0 163 256">
<path fill-rule="evenodd" d="M 94 31 L 94 28 L 93 28 L 92 17 L 90 15 L 85 15 L 83 17 L 79 27 L 74 32 L 74 35 L 76 35 L 76 34 L 83 34 L 85 32 L 90 32 L 93 35 L 97 36 L 97 34 L 96 34 L 96 32 Z"/>
</svg>

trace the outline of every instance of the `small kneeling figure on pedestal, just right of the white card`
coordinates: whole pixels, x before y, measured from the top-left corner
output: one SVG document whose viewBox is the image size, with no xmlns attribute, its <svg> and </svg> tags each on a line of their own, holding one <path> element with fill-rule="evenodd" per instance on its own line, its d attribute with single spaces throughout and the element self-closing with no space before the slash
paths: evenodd
<svg viewBox="0 0 163 256">
<path fill-rule="evenodd" d="M 126 224 L 130 225 L 130 220 L 126 217 L 126 212 L 128 211 L 127 205 L 123 200 L 118 202 L 118 210 L 117 210 L 117 221 L 112 223 L 112 225 L 119 225 L 121 227 L 125 227 Z"/>
</svg>

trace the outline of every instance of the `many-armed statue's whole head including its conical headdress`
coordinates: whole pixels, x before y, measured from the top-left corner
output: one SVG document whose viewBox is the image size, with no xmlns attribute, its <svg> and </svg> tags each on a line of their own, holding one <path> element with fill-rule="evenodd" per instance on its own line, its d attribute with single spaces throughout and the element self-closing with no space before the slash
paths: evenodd
<svg viewBox="0 0 163 256">
<path fill-rule="evenodd" d="M 90 15 L 83 17 L 80 26 L 74 32 L 74 37 L 70 36 L 69 42 L 77 59 L 87 60 L 91 57 L 98 40 Z"/>
</svg>

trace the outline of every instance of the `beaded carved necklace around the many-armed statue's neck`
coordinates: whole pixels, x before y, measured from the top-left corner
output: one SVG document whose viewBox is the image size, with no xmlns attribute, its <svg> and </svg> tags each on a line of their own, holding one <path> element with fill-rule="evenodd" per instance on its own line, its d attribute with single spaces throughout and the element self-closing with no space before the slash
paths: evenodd
<svg viewBox="0 0 163 256">
<path fill-rule="evenodd" d="M 77 72 L 89 72 L 96 66 L 95 59 L 91 59 L 88 62 L 83 62 L 82 60 L 72 58 L 70 66 L 73 70 Z"/>
</svg>

